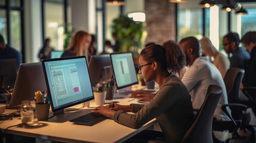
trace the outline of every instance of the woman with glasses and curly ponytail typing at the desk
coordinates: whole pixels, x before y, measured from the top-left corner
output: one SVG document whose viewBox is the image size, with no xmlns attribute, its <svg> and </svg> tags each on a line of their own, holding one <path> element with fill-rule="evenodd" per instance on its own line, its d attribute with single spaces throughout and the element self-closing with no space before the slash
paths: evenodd
<svg viewBox="0 0 256 143">
<path fill-rule="evenodd" d="M 155 97 L 145 105 L 114 103 L 114 107 L 113 104 L 99 106 L 93 112 L 101 113 L 129 128 L 140 128 L 156 118 L 162 132 L 145 130 L 127 142 L 147 142 L 160 136 L 168 142 L 181 142 L 194 122 L 189 92 L 174 74 L 180 72 L 185 64 L 184 53 L 177 43 L 167 41 L 164 46 L 150 45 L 144 48 L 140 52 L 139 63 L 138 73 L 144 81 L 153 80 L 159 85 Z M 127 111 L 135 114 L 128 114 Z"/>
</svg>

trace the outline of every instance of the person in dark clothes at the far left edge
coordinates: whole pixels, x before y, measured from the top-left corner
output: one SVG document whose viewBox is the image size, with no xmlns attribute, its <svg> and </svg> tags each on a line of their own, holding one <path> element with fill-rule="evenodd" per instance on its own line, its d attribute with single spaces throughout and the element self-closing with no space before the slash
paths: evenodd
<svg viewBox="0 0 256 143">
<path fill-rule="evenodd" d="M 17 70 L 18 70 L 22 62 L 20 52 L 12 48 L 10 45 L 5 44 L 4 37 L 0 35 L 0 60 L 11 59 L 11 58 L 17 59 Z"/>
</svg>

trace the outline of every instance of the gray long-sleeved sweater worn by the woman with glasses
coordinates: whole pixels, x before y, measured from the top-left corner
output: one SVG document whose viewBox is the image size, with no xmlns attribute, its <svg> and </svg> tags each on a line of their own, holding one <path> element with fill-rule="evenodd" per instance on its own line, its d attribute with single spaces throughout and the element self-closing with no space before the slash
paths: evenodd
<svg viewBox="0 0 256 143">
<path fill-rule="evenodd" d="M 181 80 L 172 73 L 152 101 L 146 105 L 131 105 L 132 112 L 136 114 L 116 111 L 115 122 L 130 128 L 140 128 L 156 118 L 168 142 L 180 142 L 194 122 L 189 92 Z"/>
</svg>

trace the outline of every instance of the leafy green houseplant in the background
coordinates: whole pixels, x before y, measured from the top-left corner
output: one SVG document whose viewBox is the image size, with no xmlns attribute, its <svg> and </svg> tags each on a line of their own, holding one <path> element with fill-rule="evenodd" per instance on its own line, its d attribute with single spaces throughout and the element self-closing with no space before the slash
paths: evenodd
<svg viewBox="0 0 256 143">
<path fill-rule="evenodd" d="M 132 52 L 137 55 L 142 48 L 143 23 L 120 15 L 113 20 L 112 32 L 116 33 L 120 42 L 119 52 Z"/>
</svg>

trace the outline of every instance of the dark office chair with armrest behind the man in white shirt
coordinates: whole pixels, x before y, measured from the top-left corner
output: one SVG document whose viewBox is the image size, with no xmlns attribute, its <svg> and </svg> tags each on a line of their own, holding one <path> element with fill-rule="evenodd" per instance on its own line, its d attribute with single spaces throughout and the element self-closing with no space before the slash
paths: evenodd
<svg viewBox="0 0 256 143">
<path fill-rule="evenodd" d="M 231 67 L 224 76 L 224 83 L 227 90 L 227 98 L 229 104 L 222 105 L 221 108 L 231 121 L 215 121 L 212 123 L 212 130 L 223 131 L 229 130 L 234 132 L 233 136 L 237 136 L 238 128 L 242 124 L 242 111 L 246 109 L 246 105 L 239 104 L 239 89 L 243 79 L 245 70 Z M 227 107 L 231 110 L 231 115 L 227 111 Z"/>
</svg>

